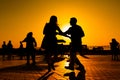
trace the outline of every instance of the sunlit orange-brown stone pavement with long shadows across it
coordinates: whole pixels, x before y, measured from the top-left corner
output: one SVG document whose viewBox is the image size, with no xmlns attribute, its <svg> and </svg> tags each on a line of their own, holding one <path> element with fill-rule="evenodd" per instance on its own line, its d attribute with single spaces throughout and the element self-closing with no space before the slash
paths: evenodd
<svg viewBox="0 0 120 80">
<path fill-rule="evenodd" d="M 26 60 L 2 61 L 0 57 L 0 80 L 120 80 L 120 61 L 112 61 L 110 55 L 86 56 L 89 59 L 77 56 L 86 69 L 85 75 L 65 69 L 67 58 L 55 63 L 55 71 L 47 72 L 43 56 L 37 56 L 36 66 L 26 66 Z M 71 74 L 65 76 L 66 73 Z"/>
</svg>

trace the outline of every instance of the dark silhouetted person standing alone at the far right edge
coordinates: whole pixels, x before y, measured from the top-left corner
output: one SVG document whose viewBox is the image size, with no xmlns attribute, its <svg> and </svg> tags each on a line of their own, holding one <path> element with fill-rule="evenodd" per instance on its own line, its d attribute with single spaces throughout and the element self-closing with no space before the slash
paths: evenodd
<svg viewBox="0 0 120 80">
<path fill-rule="evenodd" d="M 118 60 L 119 43 L 116 41 L 116 39 L 112 39 L 112 42 L 110 42 L 110 48 L 112 53 L 112 60 Z"/>
</svg>

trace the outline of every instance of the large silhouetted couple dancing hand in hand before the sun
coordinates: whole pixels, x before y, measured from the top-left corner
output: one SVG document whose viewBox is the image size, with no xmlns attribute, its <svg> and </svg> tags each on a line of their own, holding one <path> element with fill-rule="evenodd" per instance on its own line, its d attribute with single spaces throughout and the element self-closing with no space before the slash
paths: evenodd
<svg viewBox="0 0 120 80">
<path fill-rule="evenodd" d="M 51 69 L 55 70 L 55 54 L 57 53 L 57 38 L 56 35 L 71 35 L 71 48 L 70 48 L 70 63 L 69 66 L 65 66 L 66 69 L 74 70 L 74 64 L 76 63 L 79 69 L 82 72 L 85 72 L 84 66 L 81 64 L 80 60 L 76 57 L 77 52 L 82 52 L 82 37 L 84 37 L 84 32 L 82 28 L 77 25 L 77 19 L 72 17 L 70 19 L 71 27 L 66 31 L 62 32 L 57 24 L 57 17 L 51 16 L 49 23 L 46 23 L 43 34 L 44 38 L 42 41 L 41 48 L 45 49 L 45 57 L 48 63 L 48 71 Z"/>
</svg>

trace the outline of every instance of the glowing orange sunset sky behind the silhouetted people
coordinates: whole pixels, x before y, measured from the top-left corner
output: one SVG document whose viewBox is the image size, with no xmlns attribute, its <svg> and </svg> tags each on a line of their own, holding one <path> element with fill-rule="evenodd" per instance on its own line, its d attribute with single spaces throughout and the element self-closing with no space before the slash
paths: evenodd
<svg viewBox="0 0 120 80">
<path fill-rule="evenodd" d="M 120 0 L 0 0 L 0 45 L 11 40 L 17 48 L 32 31 L 40 47 L 44 25 L 52 15 L 63 31 L 76 17 L 88 46 L 109 45 L 111 38 L 120 41 Z"/>
</svg>

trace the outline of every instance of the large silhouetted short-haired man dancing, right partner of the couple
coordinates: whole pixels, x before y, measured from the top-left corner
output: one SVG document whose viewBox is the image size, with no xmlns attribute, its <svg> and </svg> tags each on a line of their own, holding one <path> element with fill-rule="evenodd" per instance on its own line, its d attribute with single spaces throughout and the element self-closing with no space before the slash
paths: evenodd
<svg viewBox="0 0 120 80">
<path fill-rule="evenodd" d="M 71 35 L 71 49 L 70 49 L 70 63 L 69 66 L 66 66 L 66 69 L 74 70 L 74 64 L 79 65 L 77 69 L 80 71 L 85 71 L 84 66 L 80 63 L 78 58 L 76 57 L 76 52 L 82 51 L 82 40 L 81 38 L 84 36 L 84 32 L 82 28 L 76 24 L 77 19 L 75 17 L 70 19 L 70 27 L 65 34 Z"/>
</svg>

